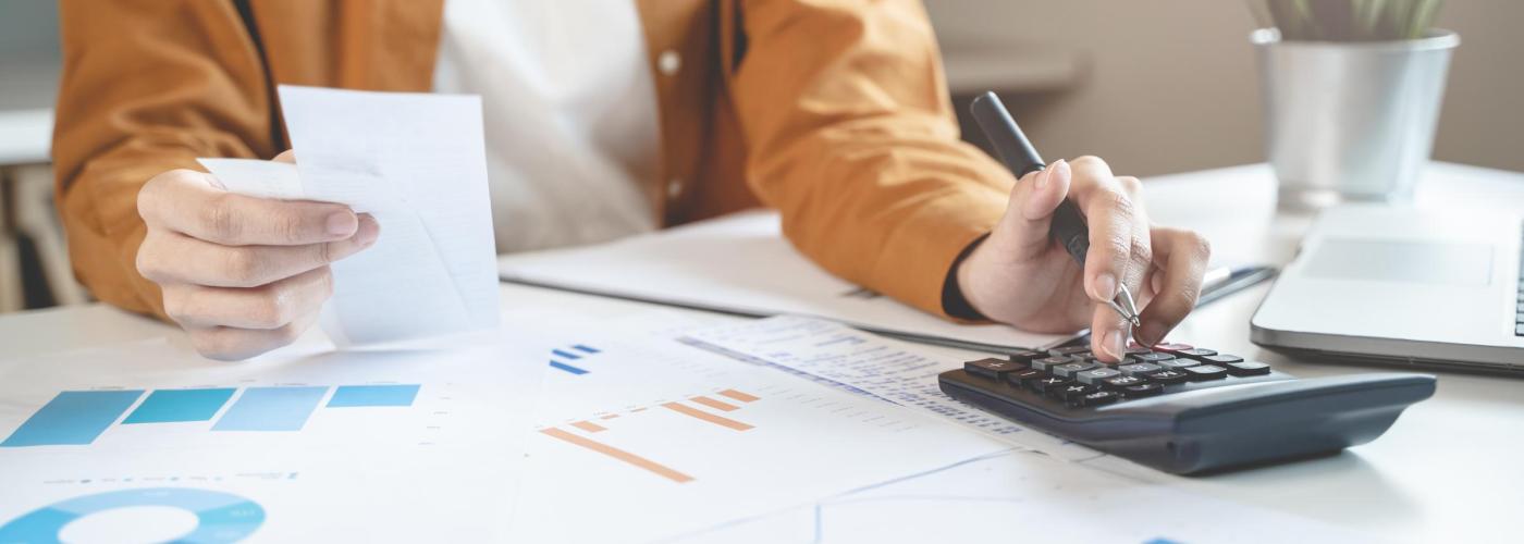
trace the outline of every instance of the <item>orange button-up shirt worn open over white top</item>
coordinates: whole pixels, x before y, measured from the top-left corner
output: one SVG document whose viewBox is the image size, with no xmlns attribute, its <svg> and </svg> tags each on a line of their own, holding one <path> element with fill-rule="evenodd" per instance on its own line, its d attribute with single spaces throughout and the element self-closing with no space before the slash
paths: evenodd
<svg viewBox="0 0 1524 544">
<path fill-rule="evenodd" d="M 276 84 L 428 91 L 442 2 L 62 0 L 53 160 L 81 282 L 163 317 L 136 268 L 143 183 L 201 169 L 195 157 L 283 151 Z M 948 270 L 1015 180 L 959 140 L 922 6 L 637 5 L 664 172 L 645 195 L 663 224 L 760 201 L 823 268 L 943 314 Z"/>
</svg>

